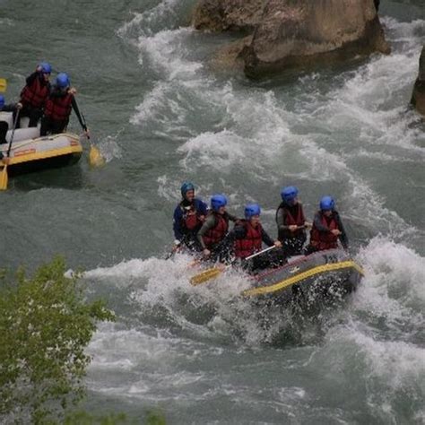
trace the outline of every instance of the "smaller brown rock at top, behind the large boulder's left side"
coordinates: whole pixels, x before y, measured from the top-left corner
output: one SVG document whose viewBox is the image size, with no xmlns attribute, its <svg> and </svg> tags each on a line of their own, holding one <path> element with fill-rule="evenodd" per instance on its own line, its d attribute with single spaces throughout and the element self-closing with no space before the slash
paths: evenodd
<svg viewBox="0 0 425 425">
<path fill-rule="evenodd" d="M 260 22 L 266 0 L 201 0 L 192 25 L 196 30 L 251 33 Z"/>
</svg>

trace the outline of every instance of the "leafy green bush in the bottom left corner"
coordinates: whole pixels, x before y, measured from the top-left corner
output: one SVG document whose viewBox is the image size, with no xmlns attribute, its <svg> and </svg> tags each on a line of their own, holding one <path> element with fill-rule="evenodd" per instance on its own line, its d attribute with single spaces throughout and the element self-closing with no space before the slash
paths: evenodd
<svg viewBox="0 0 425 425">
<path fill-rule="evenodd" d="M 0 421 L 53 423 L 85 394 L 90 343 L 98 321 L 115 316 L 84 299 L 78 276 L 57 257 L 32 278 L 0 274 Z"/>
</svg>

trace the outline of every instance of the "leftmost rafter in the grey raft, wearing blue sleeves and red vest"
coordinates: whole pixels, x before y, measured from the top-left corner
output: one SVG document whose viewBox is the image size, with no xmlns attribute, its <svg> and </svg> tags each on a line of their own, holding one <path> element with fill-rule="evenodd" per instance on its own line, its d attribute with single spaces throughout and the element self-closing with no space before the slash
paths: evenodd
<svg viewBox="0 0 425 425">
<path fill-rule="evenodd" d="M 195 198 L 195 186 L 189 181 L 183 182 L 180 187 L 182 200 L 174 210 L 173 231 L 174 247 L 177 251 L 182 245 L 190 250 L 200 251 L 196 233 L 201 229 L 208 205 L 201 199 Z"/>
</svg>

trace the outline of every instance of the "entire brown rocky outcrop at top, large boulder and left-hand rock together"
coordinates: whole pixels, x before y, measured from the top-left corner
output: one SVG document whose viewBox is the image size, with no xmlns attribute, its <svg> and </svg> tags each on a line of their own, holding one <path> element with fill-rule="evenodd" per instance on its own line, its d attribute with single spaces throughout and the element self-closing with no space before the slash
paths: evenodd
<svg viewBox="0 0 425 425">
<path fill-rule="evenodd" d="M 201 0 L 194 25 L 252 33 L 240 52 L 249 76 L 389 53 L 378 0 Z M 226 50 L 224 50 L 225 52 Z M 221 57 L 224 56 L 221 54 Z M 228 61 L 230 62 L 230 61 Z"/>
</svg>

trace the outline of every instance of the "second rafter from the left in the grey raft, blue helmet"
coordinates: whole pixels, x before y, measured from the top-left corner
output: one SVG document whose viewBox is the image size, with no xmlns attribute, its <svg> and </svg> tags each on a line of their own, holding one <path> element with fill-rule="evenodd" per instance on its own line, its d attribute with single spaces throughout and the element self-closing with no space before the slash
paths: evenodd
<svg viewBox="0 0 425 425">
<path fill-rule="evenodd" d="M 238 222 L 239 219 L 226 211 L 226 205 L 226 196 L 212 195 L 211 211 L 196 234 L 204 260 L 225 262 L 230 258 L 229 221 Z"/>
</svg>

